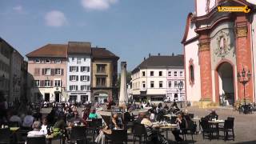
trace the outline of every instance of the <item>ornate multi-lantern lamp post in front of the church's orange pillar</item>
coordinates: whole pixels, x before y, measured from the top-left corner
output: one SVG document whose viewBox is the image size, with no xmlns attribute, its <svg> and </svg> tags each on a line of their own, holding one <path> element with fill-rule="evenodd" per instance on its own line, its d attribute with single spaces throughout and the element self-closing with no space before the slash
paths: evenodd
<svg viewBox="0 0 256 144">
<path fill-rule="evenodd" d="M 245 101 L 245 107 L 246 107 L 246 83 L 250 81 L 250 77 L 251 77 L 250 70 L 246 72 L 245 68 L 243 68 L 241 72 L 238 72 L 238 81 L 243 85 L 243 99 Z"/>
</svg>

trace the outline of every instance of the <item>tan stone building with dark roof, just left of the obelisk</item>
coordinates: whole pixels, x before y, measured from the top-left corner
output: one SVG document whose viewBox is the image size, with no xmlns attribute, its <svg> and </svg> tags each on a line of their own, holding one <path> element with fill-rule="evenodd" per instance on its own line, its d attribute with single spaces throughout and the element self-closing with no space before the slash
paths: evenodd
<svg viewBox="0 0 256 144">
<path fill-rule="evenodd" d="M 118 56 L 106 48 L 92 48 L 92 101 L 118 100 Z"/>
</svg>

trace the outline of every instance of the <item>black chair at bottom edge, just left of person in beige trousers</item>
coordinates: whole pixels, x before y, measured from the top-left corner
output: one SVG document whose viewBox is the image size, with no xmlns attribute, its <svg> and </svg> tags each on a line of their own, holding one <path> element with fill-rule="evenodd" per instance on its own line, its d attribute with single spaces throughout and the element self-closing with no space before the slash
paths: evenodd
<svg viewBox="0 0 256 144">
<path fill-rule="evenodd" d="M 70 133 L 70 143 L 86 140 L 86 126 L 74 126 Z"/>
</svg>

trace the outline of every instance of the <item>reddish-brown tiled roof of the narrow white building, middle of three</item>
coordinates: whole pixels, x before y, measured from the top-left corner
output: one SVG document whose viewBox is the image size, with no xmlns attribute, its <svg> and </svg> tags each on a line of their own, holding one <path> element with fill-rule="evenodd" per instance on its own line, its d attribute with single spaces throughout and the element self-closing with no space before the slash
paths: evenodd
<svg viewBox="0 0 256 144">
<path fill-rule="evenodd" d="M 90 42 L 69 42 L 68 54 L 90 54 Z"/>
</svg>

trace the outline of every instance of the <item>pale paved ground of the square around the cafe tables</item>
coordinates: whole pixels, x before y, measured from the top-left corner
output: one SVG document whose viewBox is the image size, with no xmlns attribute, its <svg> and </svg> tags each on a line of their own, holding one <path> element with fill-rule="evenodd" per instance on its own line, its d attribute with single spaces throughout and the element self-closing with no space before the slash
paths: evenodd
<svg viewBox="0 0 256 144">
<path fill-rule="evenodd" d="M 189 113 L 193 113 L 198 118 L 204 117 L 206 114 L 210 113 L 210 109 L 198 109 L 197 107 L 187 107 L 186 108 Z M 220 132 L 219 139 L 202 139 L 202 134 L 194 135 L 194 143 L 256 143 L 256 113 L 255 114 L 239 114 L 238 111 L 233 111 L 231 109 L 226 108 L 217 108 L 215 109 L 217 114 L 219 115 L 219 119 L 226 119 L 227 117 L 234 117 L 234 141 L 224 141 L 223 140 L 223 132 Z M 81 110 L 79 110 L 81 111 Z M 42 109 L 42 113 L 47 114 L 50 112 L 50 109 Z M 170 143 L 174 142 L 174 136 L 169 132 L 168 138 L 170 139 Z M 191 136 L 187 135 L 188 142 L 183 143 L 193 143 L 191 141 Z M 53 144 L 57 144 L 59 142 L 53 142 Z M 132 144 L 133 142 L 128 142 Z"/>
</svg>

